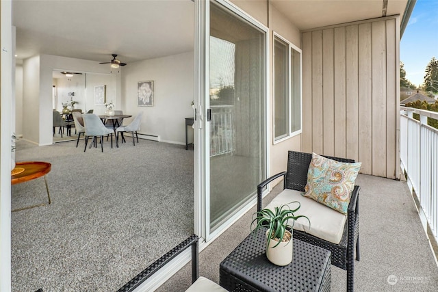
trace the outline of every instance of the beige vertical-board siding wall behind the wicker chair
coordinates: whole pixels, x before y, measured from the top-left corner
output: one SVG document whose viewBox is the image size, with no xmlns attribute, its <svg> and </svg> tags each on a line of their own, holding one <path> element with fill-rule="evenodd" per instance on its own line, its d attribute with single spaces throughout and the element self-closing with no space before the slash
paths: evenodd
<svg viewBox="0 0 438 292">
<path fill-rule="evenodd" d="M 397 23 L 388 17 L 302 32 L 302 150 L 398 178 Z"/>
</svg>

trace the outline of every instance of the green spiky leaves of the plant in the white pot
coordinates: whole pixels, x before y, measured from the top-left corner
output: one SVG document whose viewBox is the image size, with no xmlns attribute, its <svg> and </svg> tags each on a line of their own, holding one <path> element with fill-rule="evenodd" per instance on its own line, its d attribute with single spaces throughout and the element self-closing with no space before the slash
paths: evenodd
<svg viewBox="0 0 438 292">
<path fill-rule="evenodd" d="M 295 209 L 290 209 L 289 204 L 295 203 L 298 203 L 298 207 L 296 207 Z M 292 230 L 295 220 L 297 220 L 298 218 L 306 218 L 307 221 L 309 221 L 310 227 L 310 220 L 307 216 L 295 215 L 296 211 L 298 211 L 300 207 L 300 202 L 294 201 L 283 204 L 280 207 L 275 207 L 274 211 L 270 209 L 262 209 L 261 211 L 257 211 L 253 215 L 253 222 L 251 222 L 251 233 L 253 233 L 253 235 L 255 236 L 257 230 L 259 230 L 260 228 L 268 227 L 269 233 L 268 239 L 266 240 L 266 248 L 268 248 L 269 243 L 272 239 L 279 239 L 276 245 L 273 246 L 273 248 L 275 248 L 283 240 L 286 230 Z M 292 226 L 287 224 L 287 220 L 293 220 Z"/>
</svg>

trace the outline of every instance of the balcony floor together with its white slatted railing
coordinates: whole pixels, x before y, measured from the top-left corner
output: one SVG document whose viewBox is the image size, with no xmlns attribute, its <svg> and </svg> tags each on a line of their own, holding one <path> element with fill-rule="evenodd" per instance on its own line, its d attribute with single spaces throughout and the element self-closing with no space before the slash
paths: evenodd
<svg viewBox="0 0 438 292">
<path fill-rule="evenodd" d="M 423 137 L 430 137 L 432 133 L 436 136 L 437 131 L 429 129 L 424 124 L 424 118 L 420 119 L 422 123 L 409 118 L 405 112 L 400 118 L 400 160 L 403 171 L 407 172 L 407 181 L 365 174 L 357 177 L 357 185 L 361 186 L 361 261 L 355 262 L 355 291 L 438 291 L 438 267 L 433 250 L 436 225 L 431 227 L 432 221 L 438 217 L 438 163 L 435 162 L 438 143 L 437 140 L 432 143 Z M 415 127 L 415 133 L 411 133 L 412 129 L 407 130 L 405 126 L 408 124 L 411 124 L 411 128 Z M 419 139 L 420 136 L 423 138 Z M 433 157 L 426 155 L 424 148 Z M 417 154 L 420 156 L 415 156 Z M 435 170 L 427 170 L 430 180 L 424 178 L 425 165 L 435 166 Z M 411 172 L 413 174 L 409 175 Z M 426 194 L 420 190 L 421 185 L 423 190 L 428 190 Z M 434 186 L 435 189 L 424 185 Z M 282 187 L 282 183 L 276 185 L 264 204 L 279 194 Z M 413 194 L 410 189 L 414 190 Z M 254 212 L 255 207 L 201 252 L 201 276 L 219 282 L 219 263 L 248 235 L 250 218 Z M 157 291 L 184 291 L 190 286 L 190 273 L 190 265 L 186 265 Z M 346 291 L 346 271 L 333 265 L 331 291 Z"/>
</svg>

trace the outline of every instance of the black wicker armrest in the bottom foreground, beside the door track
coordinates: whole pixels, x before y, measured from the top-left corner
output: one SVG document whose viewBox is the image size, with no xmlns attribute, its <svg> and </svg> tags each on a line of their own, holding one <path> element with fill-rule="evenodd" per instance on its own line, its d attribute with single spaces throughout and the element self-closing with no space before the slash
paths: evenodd
<svg viewBox="0 0 438 292">
<path fill-rule="evenodd" d="M 127 282 L 123 287 L 118 289 L 118 292 L 131 292 L 134 291 L 142 282 L 150 278 L 156 271 L 164 267 L 168 262 L 172 261 L 181 252 L 189 247 L 192 247 L 192 283 L 198 278 L 198 236 L 191 235 L 188 239 L 185 239 L 179 245 L 172 248 L 172 250 L 166 252 L 164 256 L 158 258 L 157 261 L 146 267 L 136 277 Z"/>
</svg>

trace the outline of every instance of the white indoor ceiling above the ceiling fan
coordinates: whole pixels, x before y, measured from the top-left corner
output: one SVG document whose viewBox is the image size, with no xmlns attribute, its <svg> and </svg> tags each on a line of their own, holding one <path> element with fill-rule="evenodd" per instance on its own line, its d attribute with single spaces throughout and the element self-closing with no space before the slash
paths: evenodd
<svg viewBox="0 0 438 292">
<path fill-rule="evenodd" d="M 192 51 L 194 4 L 172 1 L 12 1 L 16 55 L 129 63 Z"/>
</svg>

